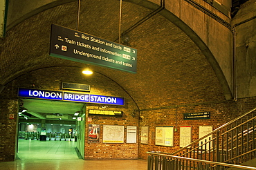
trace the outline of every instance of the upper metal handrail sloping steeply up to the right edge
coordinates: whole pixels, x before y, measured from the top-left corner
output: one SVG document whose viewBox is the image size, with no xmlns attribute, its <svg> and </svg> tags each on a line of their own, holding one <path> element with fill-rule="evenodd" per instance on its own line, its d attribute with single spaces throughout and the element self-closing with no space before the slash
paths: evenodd
<svg viewBox="0 0 256 170">
<path fill-rule="evenodd" d="M 256 108 L 253 108 L 251 111 L 248 111 L 247 113 L 245 113 L 244 115 L 241 115 L 237 118 L 235 118 L 234 120 L 231 120 L 230 122 L 226 123 L 226 124 L 223 124 L 222 126 L 219 126 L 219 128 L 215 129 L 214 131 L 212 131 L 211 133 L 208 133 L 207 135 L 203 136 L 202 138 L 199 138 L 198 140 L 195 140 L 194 142 L 188 144 L 187 146 L 175 151 L 174 153 L 172 153 L 172 155 L 176 154 L 176 153 L 179 153 L 180 151 L 182 151 L 183 149 L 186 149 L 188 147 L 190 147 L 192 144 L 195 144 L 196 142 L 199 142 L 200 140 L 203 140 L 205 139 L 206 137 L 208 137 L 209 135 L 212 135 L 213 133 L 216 133 L 217 131 L 223 129 L 224 127 L 232 124 L 233 122 L 236 122 L 237 120 L 241 119 L 242 117 L 245 117 L 246 115 L 252 113 L 253 111 L 256 111 Z"/>
</svg>

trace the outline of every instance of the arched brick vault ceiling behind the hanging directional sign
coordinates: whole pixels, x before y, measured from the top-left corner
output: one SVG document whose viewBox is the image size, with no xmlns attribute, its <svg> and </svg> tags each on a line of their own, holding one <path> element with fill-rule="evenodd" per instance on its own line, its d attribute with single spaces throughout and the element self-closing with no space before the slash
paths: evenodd
<svg viewBox="0 0 256 170">
<path fill-rule="evenodd" d="M 79 30 L 116 41 L 119 6 L 120 1 L 115 0 L 82 1 Z M 123 2 L 122 32 L 150 12 Z M 76 29 L 77 2 L 44 10 L 8 30 L 1 41 L 0 84 L 8 84 L 15 77 L 40 68 L 89 66 L 49 56 L 52 23 Z M 217 96 L 214 100 L 225 100 L 221 85 L 201 50 L 161 15 L 154 15 L 131 30 L 129 37 L 131 47 L 138 50 L 136 74 L 90 67 L 122 86 L 140 109 L 212 101 L 209 93 Z"/>
</svg>

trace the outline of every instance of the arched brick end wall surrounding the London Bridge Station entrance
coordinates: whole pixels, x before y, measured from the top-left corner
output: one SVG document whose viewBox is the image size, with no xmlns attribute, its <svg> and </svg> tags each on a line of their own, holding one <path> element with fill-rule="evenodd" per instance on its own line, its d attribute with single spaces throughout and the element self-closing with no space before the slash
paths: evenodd
<svg viewBox="0 0 256 170">
<path fill-rule="evenodd" d="M 125 141 L 123 144 L 102 144 L 102 136 L 100 136 L 99 144 L 88 144 L 87 140 L 88 124 L 122 125 L 125 128 L 127 126 L 138 126 L 138 117 L 131 115 L 136 109 L 136 105 L 129 95 L 116 82 L 98 73 L 86 77 L 82 75 L 82 68 L 57 67 L 43 68 L 22 75 L 8 84 L 0 94 L 0 161 L 15 160 L 18 115 L 17 88 L 39 88 L 58 91 L 62 82 L 89 84 L 91 85 L 92 94 L 125 97 L 125 106 L 108 106 L 106 108 L 110 111 L 122 111 L 122 117 L 93 116 L 93 122 L 86 122 L 85 159 L 138 158 L 138 143 L 127 144 Z M 87 104 L 86 115 L 88 115 L 87 111 L 89 109 L 98 109 L 99 106 L 102 105 Z M 9 119 L 11 113 L 15 115 L 15 119 Z"/>
</svg>

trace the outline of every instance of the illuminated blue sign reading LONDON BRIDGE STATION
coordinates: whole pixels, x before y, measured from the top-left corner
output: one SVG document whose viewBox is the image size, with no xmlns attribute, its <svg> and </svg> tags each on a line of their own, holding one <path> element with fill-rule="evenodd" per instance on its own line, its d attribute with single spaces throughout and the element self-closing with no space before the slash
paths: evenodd
<svg viewBox="0 0 256 170">
<path fill-rule="evenodd" d="M 91 95 L 86 93 L 73 93 L 66 91 L 45 91 L 30 88 L 19 88 L 18 97 L 29 97 L 44 100 L 62 100 L 69 102 L 86 102 L 96 104 L 125 104 L 125 99 L 123 97 Z"/>
</svg>

